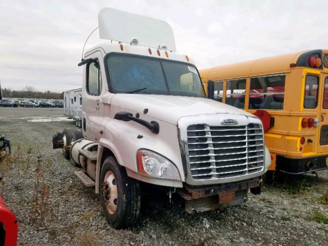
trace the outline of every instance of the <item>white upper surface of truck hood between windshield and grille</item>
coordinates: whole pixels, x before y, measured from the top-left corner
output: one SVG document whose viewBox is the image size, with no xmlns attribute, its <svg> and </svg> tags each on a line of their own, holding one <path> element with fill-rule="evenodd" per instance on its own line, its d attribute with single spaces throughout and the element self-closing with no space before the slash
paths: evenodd
<svg viewBox="0 0 328 246">
<path fill-rule="evenodd" d="M 140 115 L 148 109 L 145 115 L 173 125 L 177 125 L 181 117 L 199 114 L 231 113 L 253 116 L 215 100 L 188 96 L 115 94 L 111 105 L 121 108 L 118 111 L 129 111 Z"/>
</svg>

